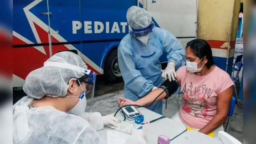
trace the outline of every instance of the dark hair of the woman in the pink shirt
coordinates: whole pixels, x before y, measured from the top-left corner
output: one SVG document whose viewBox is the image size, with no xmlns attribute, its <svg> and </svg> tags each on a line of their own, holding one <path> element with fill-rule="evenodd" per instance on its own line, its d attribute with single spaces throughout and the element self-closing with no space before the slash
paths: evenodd
<svg viewBox="0 0 256 144">
<path fill-rule="evenodd" d="M 186 49 L 188 47 L 200 59 L 202 59 L 204 56 L 206 56 L 206 58 L 208 60 L 208 62 L 206 63 L 206 67 L 208 69 L 212 65 L 214 65 L 211 46 L 205 40 L 202 40 L 202 39 L 191 40 L 190 42 L 187 43 Z"/>
</svg>

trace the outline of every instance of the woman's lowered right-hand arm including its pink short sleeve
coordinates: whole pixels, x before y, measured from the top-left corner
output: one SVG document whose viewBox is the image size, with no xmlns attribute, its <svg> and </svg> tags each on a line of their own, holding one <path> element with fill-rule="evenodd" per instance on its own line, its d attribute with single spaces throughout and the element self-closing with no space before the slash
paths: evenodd
<svg viewBox="0 0 256 144">
<path fill-rule="evenodd" d="M 209 134 L 225 122 L 233 94 L 233 85 L 234 83 L 230 76 L 226 74 L 226 76 L 222 78 L 220 91 L 217 94 L 217 114 L 208 124 L 201 128 L 199 132 Z"/>
</svg>

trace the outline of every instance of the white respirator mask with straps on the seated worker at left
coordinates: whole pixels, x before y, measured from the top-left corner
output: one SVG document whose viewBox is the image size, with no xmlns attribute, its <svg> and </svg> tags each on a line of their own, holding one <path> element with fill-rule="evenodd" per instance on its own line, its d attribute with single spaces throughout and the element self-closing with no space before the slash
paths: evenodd
<svg viewBox="0 0 256 144">
<path fill-rule="evenodd" d="M 79 80 L 78 80 L 78 82 L 79 82 Z M 80 82 L 79 82 L 79 84 L 80 84 Z M 80 84 L 80 86 L 82 88 L 81 84 Z M 82 88 L 82 93 L 79 96 L 67 96 L 67 97 L 79 98 L 79 102 L 73 108 L 71 108 L 67 113 L 81 116 L 85 112 L 86 103 L 87 103 L 86 94 L 85 94 L 85 91 L 83 90 L 83 88 Z"/>
</svg>

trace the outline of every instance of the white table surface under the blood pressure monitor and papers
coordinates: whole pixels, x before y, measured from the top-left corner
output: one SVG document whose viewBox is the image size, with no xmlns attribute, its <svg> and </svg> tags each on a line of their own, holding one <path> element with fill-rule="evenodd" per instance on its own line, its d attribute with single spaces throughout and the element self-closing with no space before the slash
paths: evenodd
<svg viewBox="0 0 256 144">
<path fill-rule="evenodd" d="M 150 120 L 154 120 L 162 116 L 146 108 L 138 108 L 138 110 L 144 115 L 144 122 L 148 122 Z M 110 115 L 114 116 L 114 113 Z M 116 118 L 118 118 L 119 120 L 124 120 L 124 116 L 122 116 L 120 112 L 116 114 Z M 134 120 L 129 121 L 126 119 L 126 122 L 134 123 Z M 134 123 L 134 128 L 137 128 L 137 127 L 138 127 L 138 124 Z M 164 135 L 170 139 L 175 138 L 179 134 L 186 131 L 186 126 L 184 124 L 174 122 L 170 118 L 163 118 L 163 119 L 157 120 L 156 122 L 148 124 L 145 127 L 145 129 L 146 129 L 147 144 L 157 144 L 158 136 Z M 100 136 L 102 136 L 102 138 L 106 141 L 107 141 L 108 130 L 112 130 L 112 129 L 108 127 L 104 127 L 103 130 L 98 131 Z"/>
</svg>

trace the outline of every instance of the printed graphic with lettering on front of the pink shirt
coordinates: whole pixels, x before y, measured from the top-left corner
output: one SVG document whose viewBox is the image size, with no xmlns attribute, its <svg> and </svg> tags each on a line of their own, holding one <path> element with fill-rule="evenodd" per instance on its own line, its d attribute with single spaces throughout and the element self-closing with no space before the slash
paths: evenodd
<svg viewBox="0 0 256 144">
<path fill-rule="evenodd" d="M 207 100 L 212 95 L 213 90 L 208 88 L 206 84 L 193 87 L 193 83 L 190 82 L 190 86 L 187 87 L 185 83 L 182 89 L 182 100 L 184 102 L 183 110 L 199 117 L 207 116 Z"/>
</svg>

